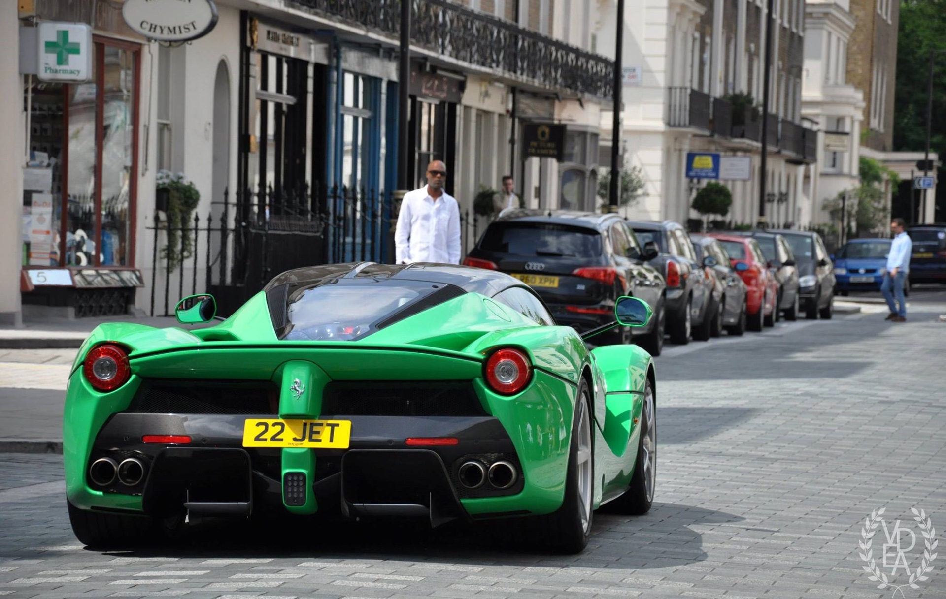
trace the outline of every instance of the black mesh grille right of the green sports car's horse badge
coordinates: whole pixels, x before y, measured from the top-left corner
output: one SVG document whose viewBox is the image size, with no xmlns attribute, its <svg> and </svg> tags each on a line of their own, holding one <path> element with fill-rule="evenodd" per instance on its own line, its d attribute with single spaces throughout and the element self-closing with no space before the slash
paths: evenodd
<svg viewBox="0 0 946 599">
<path fill-rule="evenodd" d="M 331 416 L 487 416 L 468 381 L 336 381 L 325 386 Z"/>
</svg>

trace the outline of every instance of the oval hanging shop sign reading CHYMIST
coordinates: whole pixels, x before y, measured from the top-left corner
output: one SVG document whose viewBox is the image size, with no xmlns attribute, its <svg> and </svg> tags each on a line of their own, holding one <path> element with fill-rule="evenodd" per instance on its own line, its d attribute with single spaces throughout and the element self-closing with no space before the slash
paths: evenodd
<svg viewBox="0 0 946 599">
<path fill-rule="evenodd" d="M 156 42 L 189 42 L 217 25 L 212 0 L 125 0 L 122 17 L 136 33 Z"/>
</svg>

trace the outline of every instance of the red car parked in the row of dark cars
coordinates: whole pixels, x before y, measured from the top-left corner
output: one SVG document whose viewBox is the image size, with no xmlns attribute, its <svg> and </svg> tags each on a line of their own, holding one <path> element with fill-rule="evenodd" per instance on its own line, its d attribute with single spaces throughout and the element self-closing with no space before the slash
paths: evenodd
<svg viewBox="0 0 946 599">
<path fill-rule="evenodd" d="M 762 247 L 753 237 L 727 235 L 726 233 L 706 233 L 715 237 L 726 248 L 733 269 L 745 282 L 745 317 L 749 331 L 762 331 L 763 323 L 776 310 L 779 297 L 779 282 L 766 265 Z"/>
</svg>

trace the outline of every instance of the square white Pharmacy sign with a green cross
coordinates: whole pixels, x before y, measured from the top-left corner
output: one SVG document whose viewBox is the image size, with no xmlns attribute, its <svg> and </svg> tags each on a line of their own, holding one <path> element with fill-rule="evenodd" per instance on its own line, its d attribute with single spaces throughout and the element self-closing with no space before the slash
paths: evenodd
<svg viewBox="0 0 946 599">
<path fill-rule="evenodd" d="M 92 78 L 92 27 L 82 23 L 41 23 L 37 29 L 37 71 L 42 81 Z"/>
</svg>

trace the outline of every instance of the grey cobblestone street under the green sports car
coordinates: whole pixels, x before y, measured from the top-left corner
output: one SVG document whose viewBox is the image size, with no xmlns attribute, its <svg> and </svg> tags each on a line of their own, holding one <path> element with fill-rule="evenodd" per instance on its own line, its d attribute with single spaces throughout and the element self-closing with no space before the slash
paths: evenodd
<svg viewBox="0 0 946 599">
<path fill-rule="evenodd" d="M 873 536 L 879 567 L 884 545 L 898 542 L 885 536 L 896 536 L 897 521 L 915 535 L 904 552 L 910 572 L 920 566 L 912 507 L 937 539 L 946 531 L 943 313 L 946 292 L 926 291 L 911 297 L 905 324 L 867 311 L 668 346 L 657 359 L 656 503 L 643 517 L 596 513 L 578 556 L 517 551 L 490 528 L 291 521 L 101 553 L 69 527 L 61 455 L 0 454 L 0 594 L 888 598 L 894 590 L 877 589 L 858 555 L 871 511 L 885 508 Z M 930 563 L 905 598 L 946 596 L 946 554 Z M 902 569 L 885 573 L 907 582 Z"/>
</svg>

